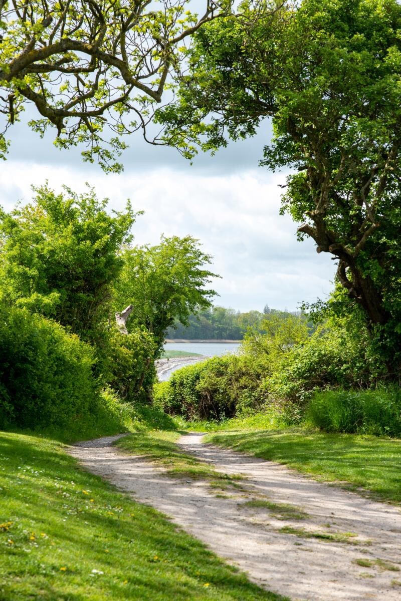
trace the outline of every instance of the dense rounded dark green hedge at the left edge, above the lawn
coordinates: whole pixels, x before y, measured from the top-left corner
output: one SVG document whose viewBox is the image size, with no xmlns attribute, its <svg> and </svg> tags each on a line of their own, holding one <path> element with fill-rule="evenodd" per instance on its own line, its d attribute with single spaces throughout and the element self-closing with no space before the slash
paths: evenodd
<svg viewBox="0 0 401 601">
<path fill-rule="evenodd" d="M 62 425 L 97 407 L 93 350 L 63 326 L 0 305 L 0 426 Z"/>
</svg>

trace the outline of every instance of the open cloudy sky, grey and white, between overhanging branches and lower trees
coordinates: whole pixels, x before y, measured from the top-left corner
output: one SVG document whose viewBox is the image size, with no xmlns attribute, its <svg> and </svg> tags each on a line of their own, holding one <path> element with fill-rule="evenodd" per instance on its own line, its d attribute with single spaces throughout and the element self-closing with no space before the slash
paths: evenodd
<svg viewBox="0 0 401 601">
<path fill-rule="evenodd" d="M 298 242 L 296 224 L 279 215 L 278 185 L 285 175 L 258 166 L 268 123 L 255 138 L 214 157 L 199 156 L 192 166 L 177 151 L 133 136 L 120 175 L 82 163 L 79 150 L 57 150 L 51 136 L 41 140 L 22 124 L 9 133 L 10 154 L 0 175 L 0 204 L 7 210 L 31 198 L 31 184 L 47 179 L 57 191 L 63 183 L 82 191 L 88 182 L 111 208 L 122 209 L 130 198 L 145 211 L 134 226 L 136 243 L 155 244 L 162 233 L 200 239 L 214 257 L 212 270 L 222 276 L 213 282 L 220 295 L 215 304 L 295 310 L 302 301 L 325 299 L 332 289 L 329 255 L 317 255 L 311 240 Z"/>
</svg>

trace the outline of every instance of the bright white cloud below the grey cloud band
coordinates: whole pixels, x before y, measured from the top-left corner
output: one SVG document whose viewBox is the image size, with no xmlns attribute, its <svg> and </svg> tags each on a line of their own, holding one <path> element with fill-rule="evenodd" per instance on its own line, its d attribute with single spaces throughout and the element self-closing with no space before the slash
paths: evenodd
<svg viewBox="0 0 401 601">
<path fill-rule="evenodd" d="M 122 209 L 130 198 L 135 209 L 145 211 L 134 227 L 139 244 L 157 243 L 162 233 L 199 238 L 223 278 L 213 282 L 219 304 L 250 310 L 268 303 L 292 310 L 331 290 L 334 266 L 328 255 L 317 255 L 310 240 L 297 242 L 296 225 L 279 215 L 282 174 L 262 169 L 206 174 L 172 166 L 105 175 L 89 167 L 85 177 L 73 165 L 9 160 L 0 176 L 0 204 L 9 210 L 18 198 L 28 201 L 30 185 L 46 179 L 57 190 L 67 183 L 76 191 L 88 180 L 99 197 L 109 197 L 112 209 Z"/>
</svg>

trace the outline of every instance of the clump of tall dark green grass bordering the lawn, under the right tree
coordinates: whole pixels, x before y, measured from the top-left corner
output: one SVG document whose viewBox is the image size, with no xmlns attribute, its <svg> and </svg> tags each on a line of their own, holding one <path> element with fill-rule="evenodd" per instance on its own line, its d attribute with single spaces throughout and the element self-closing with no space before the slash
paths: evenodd
<svg viewBox="0 0 401 601">
<path fill-rule="evenodd" d="M 307 407 L 314 426 L 327 432 L 401 436 L 401 389 L 316 392 Z"/>
</svg>

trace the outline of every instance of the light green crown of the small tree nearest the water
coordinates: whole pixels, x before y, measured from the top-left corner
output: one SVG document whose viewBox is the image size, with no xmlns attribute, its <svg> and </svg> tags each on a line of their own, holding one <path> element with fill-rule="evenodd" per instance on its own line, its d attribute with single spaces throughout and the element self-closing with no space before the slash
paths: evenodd
<svg viewBox="0 0 401 601">
<path fill-rule="evenodd" d="M 136 246 L 122 257 L 115 282 L 115 307 L 132 305 L 127 328 L 145 328 L 153 335 L 158 358 L 167 329 L 176 320 L 188 324 L 195 308 L 207 308 L 215 291 L 206 288 L 215 273 L 205 269 L 210 255 L 191 236 L 162 237 L 159 245 Z"/>
</svg>

